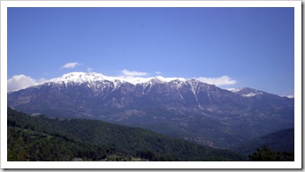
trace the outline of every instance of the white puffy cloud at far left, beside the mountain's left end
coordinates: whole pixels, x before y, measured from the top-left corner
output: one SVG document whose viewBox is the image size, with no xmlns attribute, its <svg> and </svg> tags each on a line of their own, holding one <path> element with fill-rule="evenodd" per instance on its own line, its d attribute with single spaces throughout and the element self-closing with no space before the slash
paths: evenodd
<svg viewBox="0 0 305 172">
<path fill-rule="evenodd" d="M 19 90 L 21 88 L 41 83 L 46 79 L 32 79 L 26 75 L 15 75 L 11 79 L 7 79 L 7 91 Z"/>
</svg>

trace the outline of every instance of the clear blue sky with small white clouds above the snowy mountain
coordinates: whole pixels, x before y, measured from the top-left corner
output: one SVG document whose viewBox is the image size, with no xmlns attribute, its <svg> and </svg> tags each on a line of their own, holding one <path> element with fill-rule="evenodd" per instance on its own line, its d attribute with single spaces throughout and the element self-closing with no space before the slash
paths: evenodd
<svg viewBox="0 0 305 172">
<path fill-rule="evenodd" d="M 8 89 L 72 71 L 294 95 L 294 8 L 8 8 Z"/>
</svg>

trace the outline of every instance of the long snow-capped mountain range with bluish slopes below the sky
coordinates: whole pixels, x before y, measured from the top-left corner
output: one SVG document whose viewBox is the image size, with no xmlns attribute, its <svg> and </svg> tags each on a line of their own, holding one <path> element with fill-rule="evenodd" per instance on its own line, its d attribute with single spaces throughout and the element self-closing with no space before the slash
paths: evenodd
<svg viewBox="0 0 305 172">
<path fill-rule="evenodd" d="M 251 88 L 228 91 L 197 79 L 72 72 L 8 93 L 8 106 L 139 126 L 215 147 L 294 127 L 294 99 Z"/>
</svg>

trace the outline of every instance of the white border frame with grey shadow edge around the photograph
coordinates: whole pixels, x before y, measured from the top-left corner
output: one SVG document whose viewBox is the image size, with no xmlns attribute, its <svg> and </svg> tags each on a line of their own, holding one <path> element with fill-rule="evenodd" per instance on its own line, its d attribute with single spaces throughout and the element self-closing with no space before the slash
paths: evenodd
<svg viewBox="0 0 305 172">
<path fill-rule="evenodd" d="M 294 7 L 294 161 L 7 161 L 7 7 Z M 300 1 L 1 1 L 1 168 L 301 168 Z"/>
</svg>

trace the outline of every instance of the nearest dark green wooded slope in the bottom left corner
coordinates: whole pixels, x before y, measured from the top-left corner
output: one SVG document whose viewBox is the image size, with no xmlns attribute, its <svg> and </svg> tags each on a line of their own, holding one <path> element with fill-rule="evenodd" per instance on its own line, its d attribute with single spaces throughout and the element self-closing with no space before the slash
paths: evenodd
<svg viewBox="0 0 305 172">
<path fill-rule="evenodd" d="M 94 146 L 57 133 L 8 126 L 8 161 L 98 161 L 107 160 L 115 150 Z"/>
</svg>

